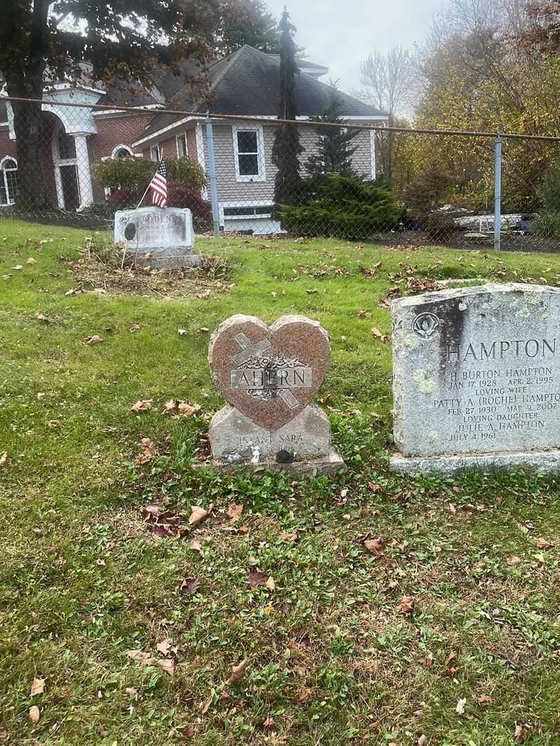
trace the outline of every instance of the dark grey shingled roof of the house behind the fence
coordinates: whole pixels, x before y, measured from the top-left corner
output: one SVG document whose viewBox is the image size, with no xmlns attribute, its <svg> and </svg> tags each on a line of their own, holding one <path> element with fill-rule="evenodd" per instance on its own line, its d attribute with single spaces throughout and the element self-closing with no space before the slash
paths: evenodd
<svg viewBox="0 0 560 746">
<path fill-rule="evenodd" d="M 302 64 L 305 63 L 302 60 Z M 279 116 L 280 58 L 245 45 L 208 68 L 211 101 L 195 101 L 193 89 L 186 84 L 168 101 L 167 107 L 188 111 L 246 116 Z M 385 112 L 358 98 L 340 93 L 341 115 L 386 116 Z M 329 105 L 331 87 L 311 75 L 296 75 L 295 96 L 298 116 L 320 116 Z M 181 116 L 158 114 L 146 127 L 143 137 L 178 122 Z"/>
</svg>

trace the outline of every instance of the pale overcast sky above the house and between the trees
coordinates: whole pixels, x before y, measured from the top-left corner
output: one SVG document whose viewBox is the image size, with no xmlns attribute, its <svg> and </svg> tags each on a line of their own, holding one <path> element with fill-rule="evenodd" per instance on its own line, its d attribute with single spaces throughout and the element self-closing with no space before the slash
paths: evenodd
<svg viewBox="0 0 560 746">
<path fill-rule="evenodd" d="M 361 88 L 360 62 L 370 51 L 422 42 L 443 0 L 267 0 L 279 17 L 284 5 L 296 42 L 311 62 L 329 67 L 349 92 Z M 327 81 L 327 78 L 323 78 Z"/>
</svg>

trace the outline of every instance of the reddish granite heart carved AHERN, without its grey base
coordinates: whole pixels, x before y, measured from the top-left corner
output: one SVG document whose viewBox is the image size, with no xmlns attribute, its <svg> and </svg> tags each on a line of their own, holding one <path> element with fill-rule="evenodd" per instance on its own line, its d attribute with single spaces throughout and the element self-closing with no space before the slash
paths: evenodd
<svg viewBox="0 0 560 746">
<path fill-rule="evenodd" d="M 305 316 L 282 316 L 270 328 L 255 316 L 230 316 L 211 339 L 214 381 L 233 407 L 278 430 L 307 407 L 329 367 L 329 335 Z"/>
</svg>

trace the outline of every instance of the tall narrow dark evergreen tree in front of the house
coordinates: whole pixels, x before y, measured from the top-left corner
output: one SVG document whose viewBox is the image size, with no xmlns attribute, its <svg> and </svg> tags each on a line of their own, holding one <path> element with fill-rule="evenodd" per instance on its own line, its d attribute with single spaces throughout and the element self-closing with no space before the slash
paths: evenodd
<svg viewBox="0 0 560 746">
<path fill-rule="evenodd" d="M 296 45 L 290 23 L 290 13 L 284 10 L 280 21 L 280 119 L 296 121 L 295 82 L 299 75 L 296 63 Z M 278 169 L 274 182 L 276 204 L 293 204 L 298 197 L 301 184 L 299 175 L 299 128 L 294 123 L 281 124 L 276 128 L 273 145 L 273 163 Z"/>
</svg>

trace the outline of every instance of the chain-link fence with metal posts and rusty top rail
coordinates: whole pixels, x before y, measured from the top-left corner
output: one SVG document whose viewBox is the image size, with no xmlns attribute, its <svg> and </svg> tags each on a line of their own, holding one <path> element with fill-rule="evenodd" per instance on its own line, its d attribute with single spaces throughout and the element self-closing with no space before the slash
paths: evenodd
<svg viewBox="0 0 560 746">
<path fill-rule="evenodd" d="M 111 230 L 164 160 L 199 234 L 560 251 L 559 157 L 553 137 L 4 98 L 0 218 Z"/>
</svg>

